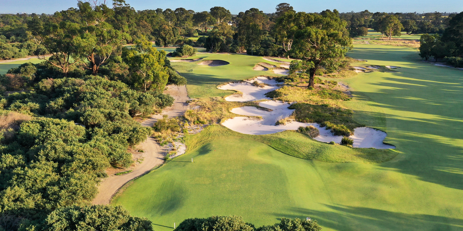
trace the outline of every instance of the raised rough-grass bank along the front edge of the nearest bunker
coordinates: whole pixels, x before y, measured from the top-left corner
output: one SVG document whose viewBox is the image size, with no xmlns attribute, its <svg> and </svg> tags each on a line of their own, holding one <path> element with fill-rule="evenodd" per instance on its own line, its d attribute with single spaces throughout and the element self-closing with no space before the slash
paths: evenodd
<svg viewBox="0 0 463 231">
<path fill-rule="evenodd" d="M 228 128 L 211 125 L 199 134 L 185 137 L 188 150 L 193 150 L 213 140 L 231 138 L 255 140 L 290 156 L 334 163 L 381 163 L 393 159 L 397 152 L 391 149 L 350 148 L 341 145 L 328 145 L 311 139 L 306 134 L 288 130 L 267 135 L 248 135 L 234 132 Z"/>
</svg>

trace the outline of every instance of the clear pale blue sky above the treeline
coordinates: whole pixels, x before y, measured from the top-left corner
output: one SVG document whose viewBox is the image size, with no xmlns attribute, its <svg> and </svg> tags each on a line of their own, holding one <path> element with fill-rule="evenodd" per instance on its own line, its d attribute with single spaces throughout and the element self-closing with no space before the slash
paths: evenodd
<svg viewBox="0 0 463 231">
<path fill-rule="evenodd" d="M 296 11 L 321 12 L 338 9 L 339 12 L 462 12 L 462 0 L 126 0 L 135 10 L 183 7 L 188 10 L 209 11 L 223 6 L 237 14 L 249 8 L 266 13 L 275 12 L 275 6 L 287 2 Z M 75 7 L 77 0 L 0 0 L 0 13 L 54 13 Z"/>
</svg>

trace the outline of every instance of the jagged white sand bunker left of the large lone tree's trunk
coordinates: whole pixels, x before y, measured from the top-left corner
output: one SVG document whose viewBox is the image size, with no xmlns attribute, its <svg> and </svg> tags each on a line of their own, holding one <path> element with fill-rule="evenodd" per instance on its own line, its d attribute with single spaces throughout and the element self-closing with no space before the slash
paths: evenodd
<svg viewBox="0 0 463 231">
<path fill-rule="evenodd" d="M 265 78 L 265 77 L 261 77 L 261 78 Z M 281 88 L 281 86 L 276 86 L 276 85 L 265 85 L 263 87 L 259 87 L 259 86 L 255 86 L 251 84 L 254 81 L 266 84 L 267 81 L 271 81 L 269 79 L 266 80 L 266 82 L 264 82 L 263 79 L 256 79 L 256 80 L 253 80 L 252 82 L 249 82 L 249 81 L 250 80 L 242 81 L 242 82 L 232 82 L 232 83 L 219 86 L 217 88 L 221 90 L 234 90 L 234 91 L 238 91 L 242 93 L 242 94 L 237 93 L 237 94 L 233 94 L 231 96 L 225 97 L 226 101 L 231 101 L 231 102 L 245 102 L 245 101 L 270 99 L 269 97 L 266 97 L 265 94 L 267 92 L 274 91 L 278 88 Z"/>
</svg>

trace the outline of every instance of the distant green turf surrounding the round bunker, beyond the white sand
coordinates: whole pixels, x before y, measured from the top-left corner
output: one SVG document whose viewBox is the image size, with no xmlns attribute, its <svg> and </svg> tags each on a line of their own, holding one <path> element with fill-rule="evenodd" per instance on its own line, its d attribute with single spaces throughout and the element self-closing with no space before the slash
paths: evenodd
<svg viewBox="0 0 463 231">
<path fill-rule="evenodd" d="M 224 82 L 249 79 L 258 75 L 277 75 L 271 71 L 254 71 L 252 67 L 258 62 L 264 62 L 260 56 L 238 54 L 198 54 L 188 59 L 203 58 L 205 60 L 223 60 L 230 64 L 209 67 L 197 65 L 198 62 L 172 62 L 174 67 L 183 77 L 187 78 L 188 95 L 191 98 L 223 97 L 232 94 L 232 91 L 217 89 L 217 85 Z M 178 58 L 170 58 L 178 59 Z M 269 61 L 265 61 L 269 62 Z M 275 64 L 274 62 L 269 62 Z"/>
</svg>

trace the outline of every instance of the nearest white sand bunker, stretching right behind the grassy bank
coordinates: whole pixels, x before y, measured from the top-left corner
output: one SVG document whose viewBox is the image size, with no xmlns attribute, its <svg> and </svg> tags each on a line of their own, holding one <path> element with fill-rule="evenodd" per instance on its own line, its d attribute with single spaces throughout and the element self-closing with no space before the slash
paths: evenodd
<svg viewBox="0 0 463 231">
<path fill-rule="evenodd" d="M 288 109 L 289 105 L 289 103 L 269 100 L 260 102 L 259 106 L 271 109 L 271 111 L 258 109 L 257 107 L 252 106 L 234 108 L 231 110 L 232 113 L 243 116 L 227 119 L 222 122 L 222 125 L 235 132 L 252 135 L 273 134 L 285 130 L 297 130 L 301 126 L 307 127 L 312 125 L 319 129 L 320 132 L 320 135 L 313 139 L 326 143 L 331 141 L 334 141 L 335 143 L 341 142 L 342 136 L 334 135 L 331 130 L 326 129 L 326 127 L 321 128 L 318 123 L 291 121 L 287 122 L 285 125 L 275 125 L 275 122 L 278 120 L 291 116 L 294 109 Z M 246 116 L 261 116 L 262 119 Z M 353 147 L 373 147 L 377 149 L 395 148 L 394 146 L 387 145 L 382 142 L 384 138 L 386 138 L 386 135 L 387 134 L 385 132 L 374 128 L 360 127 L 354 129 L 354 135 L 351 135 L 350 138 L 354 140 Z"/>
</svg>

